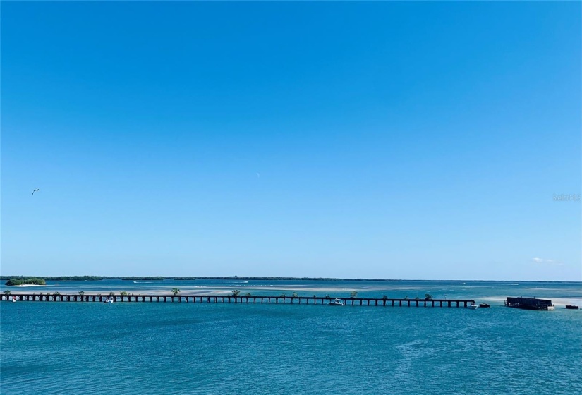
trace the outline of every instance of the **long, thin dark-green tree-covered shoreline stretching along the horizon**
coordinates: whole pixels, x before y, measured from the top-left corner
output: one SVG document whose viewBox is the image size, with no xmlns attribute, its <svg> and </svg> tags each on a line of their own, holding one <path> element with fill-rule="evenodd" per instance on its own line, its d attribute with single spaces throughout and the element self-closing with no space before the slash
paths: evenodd
<svg viewBox="0 0 582 395">
<path fill-rule="evenodd" d="M 334 279 L 331 277 L 109 277 L 109 276 L 0 276 L 0 280 L 25 281 L 30 279 L 42 279 L 44 281 L 100 281 L 100 280 L 127 280 L 127 281 L 162 281 L 162 280 L 259 280 L 259 281 L 401 281 L 393 279 Z"/>
</svg>

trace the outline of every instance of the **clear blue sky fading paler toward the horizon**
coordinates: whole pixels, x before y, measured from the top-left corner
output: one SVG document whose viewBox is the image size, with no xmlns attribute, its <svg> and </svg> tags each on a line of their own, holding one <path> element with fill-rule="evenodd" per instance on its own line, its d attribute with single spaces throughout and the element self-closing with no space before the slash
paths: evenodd
<svg viewBox="0 0 582 395">
<path fill-rule="evenodd" d="M 579 2 L 3 2 L 1 274 L 580 281 L 581 28 Z"/>
</svg>

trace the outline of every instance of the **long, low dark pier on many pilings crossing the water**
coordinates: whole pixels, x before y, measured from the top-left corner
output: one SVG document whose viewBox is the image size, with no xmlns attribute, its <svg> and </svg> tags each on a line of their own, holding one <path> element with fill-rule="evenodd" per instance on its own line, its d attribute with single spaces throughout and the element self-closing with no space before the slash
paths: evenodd
<svg viewBox="0 0 582 395">
<path fill-rule="evenodd" d="M 20 302 L 97 302 L 108 298 L 114 302 L 162 302 L 162 303 L 273 303 L 325 305 L 336 298 L 326 296 L 234 296 L 234 295 L 102 295 L 102 294 L 54 294 L 54 293 L 10 293 L 2 294 L 0 300 Z M 337 298 L 344 305 L 358 306 L 406 306 L 406 307 L 464 307 L 475 303 L 469 299 L 394 299 L 394 298 Z"/>
</svg>

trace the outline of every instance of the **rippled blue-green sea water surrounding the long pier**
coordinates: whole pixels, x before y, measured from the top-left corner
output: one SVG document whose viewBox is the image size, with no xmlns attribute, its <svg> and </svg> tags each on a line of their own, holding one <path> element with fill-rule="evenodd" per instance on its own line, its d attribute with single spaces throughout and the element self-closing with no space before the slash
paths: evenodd
<svg viewBox="0 0 582 395">
<path fill-rule="evenodd" d="M 144 284 L 145 283 L 145 284 Z M 581 394 L 581 283 L 49 282 L 12 293 L 474 298 L 491 308 L 0 303 L 1 394 Z M 6 287 L 0 287 L 4 291 Z M 550 298 L 555 311 L 505 308 Z"/>
</svg>

